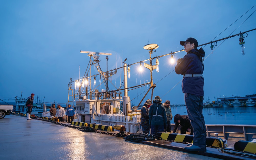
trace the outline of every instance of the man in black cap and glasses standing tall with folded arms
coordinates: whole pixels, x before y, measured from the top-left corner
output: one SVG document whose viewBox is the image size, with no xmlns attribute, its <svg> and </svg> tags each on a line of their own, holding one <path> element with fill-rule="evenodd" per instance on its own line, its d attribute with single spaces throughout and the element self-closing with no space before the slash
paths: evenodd
<svg viewBox="0 0 256 160">
<path fill-rule="evenodd" d="M 187 54 L 177 60 L 175 72 L 183 75 L 182 91 L 185 94 L 185 103 L 188 118 L 194 129 L 193 145 L 185 146 L 189 151 L 206 151 L 206 126 L 203 110 L 204 100 L 204 71 L 203 57 L 205 51 L 198 47 L 195 38 L 180 41 Z"/>
</svg>

